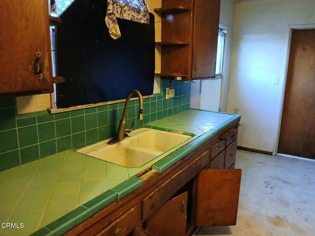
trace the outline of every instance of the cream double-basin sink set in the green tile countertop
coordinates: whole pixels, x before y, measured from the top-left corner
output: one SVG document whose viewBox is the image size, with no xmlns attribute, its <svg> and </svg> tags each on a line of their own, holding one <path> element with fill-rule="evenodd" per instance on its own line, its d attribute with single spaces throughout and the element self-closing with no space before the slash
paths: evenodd
<svg viewBox="0 0 315 236">
<path fill-rule="evenodd" d="M 184 146 L 185 141 L 191 138 L 150 128 L 134 130 L 129 136 L 114 145 L 108 145 L 108 139 L 76 151 L 128 168 L 140 167 L 172 148 Z"/>
</svg>

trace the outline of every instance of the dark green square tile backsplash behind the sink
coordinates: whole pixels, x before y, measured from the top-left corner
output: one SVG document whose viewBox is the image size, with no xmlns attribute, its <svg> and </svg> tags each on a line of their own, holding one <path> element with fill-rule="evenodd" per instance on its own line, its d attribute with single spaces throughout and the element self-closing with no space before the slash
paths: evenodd
<svg viewBox="0 0 315 236">
<path fill-rule="evenodd" d="M 175 97 L 165 99 L 166 89 Z M 0 171 L 70 148 L 82 148 L 113 137 L 125 103 L 50 115 L 47 111 L 16 115 L 15 98 L 0 98 Z M 135 128 L 168 117 L 190 106 L 190 82 L 161 80 L 161 93 L 144 99 L 144 118 L 138 120 L 138 101 L 130 101 L 127 123 Z"/>
</svg>

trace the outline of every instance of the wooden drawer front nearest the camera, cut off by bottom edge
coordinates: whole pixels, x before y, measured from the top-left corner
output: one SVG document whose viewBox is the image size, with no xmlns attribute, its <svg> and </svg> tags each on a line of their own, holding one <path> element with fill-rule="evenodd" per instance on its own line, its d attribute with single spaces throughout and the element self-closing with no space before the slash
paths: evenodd
<svg viewBox="0 0 315 236">
<path fill-rule="evenodd" d="M 96 236 L 126 236 L 131 233 L 135 225 L 141 220 L 140 206 L 130 208 L 121 217 L 112 222 Z"/>
</svg>

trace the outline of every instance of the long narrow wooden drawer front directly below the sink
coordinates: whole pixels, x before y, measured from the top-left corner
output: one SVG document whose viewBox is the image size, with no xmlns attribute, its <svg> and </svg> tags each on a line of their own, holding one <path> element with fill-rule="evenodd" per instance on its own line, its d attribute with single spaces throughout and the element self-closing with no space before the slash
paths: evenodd
<svg viewBox="0 0 315 236">
<path fill-rule="evenodd" d="M 184 169 L 162 183 L 142 200 L 142 220 L 157 211 L 191 178 L 195 177 L 209 163 L 209 150 L 190 162 Z"/>
</svg>

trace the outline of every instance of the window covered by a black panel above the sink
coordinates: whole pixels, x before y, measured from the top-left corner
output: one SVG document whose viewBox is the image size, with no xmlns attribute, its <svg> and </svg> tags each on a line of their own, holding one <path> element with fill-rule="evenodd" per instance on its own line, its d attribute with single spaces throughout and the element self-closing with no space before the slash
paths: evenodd
<svg viewBox="0 0 315 236">
<path fill-rule="evenodd" d="M 65 81 L 55 85 L 55 108 L 120 101 L 130 88 L 139 90 L 143 96 L 152 96 L 153 14 L 150 24 L 117 19 L 123 36 L 113 39 L 104 21 L 106 1 L 73 1 L 62 7 L 65 10 L 61 15 L 58 5 L 56 9 L 62 24 L 52 29 L 55 35 L 52 55 L 56 76 L 64 77 Z"/>
</svg>

